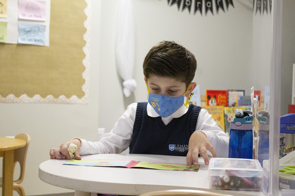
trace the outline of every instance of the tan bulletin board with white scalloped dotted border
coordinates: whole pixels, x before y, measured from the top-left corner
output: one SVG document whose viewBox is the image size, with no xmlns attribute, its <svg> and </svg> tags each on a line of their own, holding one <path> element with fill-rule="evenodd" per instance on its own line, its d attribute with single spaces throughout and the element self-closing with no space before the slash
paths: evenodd
<svg viewBox="0 0 295 196">
<path fill-rule="evenodd" d="M 51 0 L 49 46 L 0 43 L 0 103 L 89 103 L 91 0 Z"/>
</svg>

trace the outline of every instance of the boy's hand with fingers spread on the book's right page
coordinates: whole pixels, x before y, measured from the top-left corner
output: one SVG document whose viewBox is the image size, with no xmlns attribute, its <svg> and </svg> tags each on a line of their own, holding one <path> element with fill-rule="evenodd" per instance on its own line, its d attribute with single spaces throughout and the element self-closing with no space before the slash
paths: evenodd
<svg viewBox="0 0 295 196">
<path fill-rule="evenodd" d="M 199 165 L 198 155 L 202 154 L 205 165 L 209 165 L 209 159 L 207 150 L 212 153 L 213 157 L 216 157 L 216 152 L 213 146 L 210 144 L 205 133 L 201 131 L 195 131 L 189 138 L 189 152 L 186 155 L 186 166 L 191 168 L 191 165 Z"/>
</svg>

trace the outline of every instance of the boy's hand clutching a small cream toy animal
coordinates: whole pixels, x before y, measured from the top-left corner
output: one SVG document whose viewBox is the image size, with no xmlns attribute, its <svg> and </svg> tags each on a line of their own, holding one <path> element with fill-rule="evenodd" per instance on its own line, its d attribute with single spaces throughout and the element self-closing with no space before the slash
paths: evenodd
<svg viewBox="0 0 295 196">
<path fill-rule="evenodd" d="M 79 139 L 73 139 L 71 141 L 63 143 L 58 148 L 51 148 L 49 152 L 50 159 L 70 159 L 68 148 L 71 143 L 78 146 L 77 150 L 74 152 L 75 159 L 81 160 L 81 157 L 80 157 L 81 141 Z"/>
</svg>

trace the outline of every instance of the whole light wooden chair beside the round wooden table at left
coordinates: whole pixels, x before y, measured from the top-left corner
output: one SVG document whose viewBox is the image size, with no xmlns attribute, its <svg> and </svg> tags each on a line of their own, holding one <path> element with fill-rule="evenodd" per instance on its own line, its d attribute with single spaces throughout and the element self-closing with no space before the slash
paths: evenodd
<svg viewBox="0 0 295 196">
<path fill-rule="evenodd" d="M 30 136 L 27 133 L 20 133 L 16 135 L 15 138 L 25 140 L 27 144 L 22 148 L 14 150 L 14 167 L 16 163 L 19 162 L 20 175 L 19 179 L 13 181 L 13 190 L 17 191 L 20 196 L 26 196 L 24 193 L 24 188 L 20 185 L 20 183 L 22 183 L 24 180 L 24 168 L 26 165 L 27 151 L 30 144 Z M 2 177 L 0 178 L 0 187 L 2 187 Z"/>
</svg>

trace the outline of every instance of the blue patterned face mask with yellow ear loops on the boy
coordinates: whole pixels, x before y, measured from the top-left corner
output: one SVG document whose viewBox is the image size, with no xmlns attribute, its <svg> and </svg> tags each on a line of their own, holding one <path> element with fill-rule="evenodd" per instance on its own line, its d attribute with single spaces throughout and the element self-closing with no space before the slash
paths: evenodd
<svg viewBox="0 0 295 196">
<path fill-rule="evenodd" d="M 190 87 L 191 85 L 189 85 Z M 154 110 L 163 118 L 170 116 L 176 110 L 178 110 L 183 104 L 187 106 L 189 104 L 189 98 L 187 97 L 186 103 L 184 102 L 184 96 L 189 91 L 189 87 L 183 96 L 171 97 L 168 95 L 154 95 L 148 90 L 148 103 L 153 106 Z M 147 85 L 148 89 L 148 85 Z M 191 95 L 192 96 L 192 95 Z M 191 97 L 190 96 L 190 97 Z"/>
</svg>

